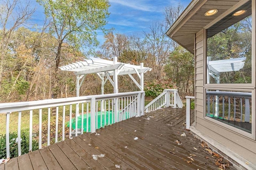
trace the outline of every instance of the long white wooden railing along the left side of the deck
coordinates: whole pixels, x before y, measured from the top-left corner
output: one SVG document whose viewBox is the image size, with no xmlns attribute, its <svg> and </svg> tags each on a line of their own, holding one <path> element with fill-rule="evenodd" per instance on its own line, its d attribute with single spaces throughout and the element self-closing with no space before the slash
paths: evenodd
<svg viewBox="0 0 256 170">
<path fill-rule="evenodd" d="M 73 98 L 49 99 L 31 102 L 16 102 L 0 104 L 0 114 L 6 114 L 6 157 L 10 158 L 10 115 L 18 114 L 18 155 L 21 155 L 21 119 L 22 114 L 30 115 L 29 118 L 29 150 L 32 150 L 32 132 L 33 132 L 33 114 L 39 116 L 38 143 L 39 149 L 42 148 L 42 116 L 48 117 L 48 131 L 44 134 L 47 137 L 47 145 L 50 145 L 50 119 L 52 119 L 52 110 L 56 114 L 55 124 L 55 143 L 65 140 L 65 118 L 69 119 L 69 138 L 72 137 L 72 107 L 75 117 L 75 136 L 78 135 L 78 116 L 82 114 L 81 133 L 84 131 L 84 116 L 86 116 L 86 132 L 94 133 L 96 129 L 128 119 L 134 116 L 144 115 L 144 96 L 143 91 L 127 92 L 118 94 L 104 94 L 94 96 L 82 96 Z M 67 106 L 67 107 L 66 107 Z M 68 111 L 69 108 L 69 111 Z M 58 127 L 59 110 L 62 110 L 62 127 Z M 108 112 L 108 115 L 107 115 Z M 110 114 L 113 113 L 113 114 Z M 90 122 L 89 122 L 90 116 Z M 108 121 L 106 121 L 108 116 Z M 111 117 L 110 117 L 111 116 Z M 104 121 L 103 121 L 104 119 Z M 74 119 L 73 119 L 74 120 Z M 98 125 L 100 121 L 100 126 Z M 90 131 L 89 131 L 90 125 Z M 58 131 L 62 130 L 62 134 Z M 62 139 L 59 140 L 62 136 Z M 45 139 L 46 140 L 46 139 Z M 54 140 L 54 139 L 53 139 Z"/>
</svg>

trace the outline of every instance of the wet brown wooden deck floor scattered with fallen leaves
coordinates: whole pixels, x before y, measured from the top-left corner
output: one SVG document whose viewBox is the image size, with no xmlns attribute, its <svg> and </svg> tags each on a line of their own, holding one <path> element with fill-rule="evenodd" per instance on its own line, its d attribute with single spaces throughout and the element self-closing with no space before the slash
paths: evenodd
<svg viewBox="0 0 256 170">
<path fill-rule="evenodd" d="M 0 170 L 218 169 L 214 165 L 216 158 L 183 128 L 185 112 L 186 109 L 168 107 L 134 117 L 98 129 L 100 135 L 85 133 L 12 158 L 1 164 Z M 181 136 L 183 133 L 186 136 Z M 94 160 L 93 155 L 100 154 L 104 157 Z"/>
</svg>

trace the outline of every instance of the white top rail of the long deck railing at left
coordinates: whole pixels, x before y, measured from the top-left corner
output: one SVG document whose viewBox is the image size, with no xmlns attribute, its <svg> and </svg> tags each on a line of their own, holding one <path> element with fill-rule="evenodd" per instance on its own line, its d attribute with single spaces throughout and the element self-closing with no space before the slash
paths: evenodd
<svg viewBox="0 0 256 170">
<path fill-rule="evenodd" d="M 131 96 L 134 94 L 141 94 L 141 93 L 144 93 L 144 91 L 115 93 L 115 94 L 100 94 L 100 95 L 71 97 L 71 98 L 59 98 L 59 99 L 46 99 L 46 100 L 29 101 L 29 102 L 2 103 L 0 104 L 0 113 L 55 107 L 55 106 L 62 106 L 62 105 L 68 105 L 68 104 L 76 104 L 79 102 L 89 102 L 90 99 L 92 98 L 95 98 L 96 100 L 111 99 L 117 96 L 119 98 L 122 98 L 122 97 Z"/>
</svg>

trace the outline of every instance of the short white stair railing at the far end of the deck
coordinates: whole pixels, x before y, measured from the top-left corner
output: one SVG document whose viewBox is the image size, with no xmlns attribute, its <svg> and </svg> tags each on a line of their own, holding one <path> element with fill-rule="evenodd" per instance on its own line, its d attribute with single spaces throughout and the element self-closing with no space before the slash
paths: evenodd
<svg viewBox="0 0 256 170">
<path fill-rule="evenodd" d="M 161 107 L 183 107 L 182 100 L 176 89 L 166 89 L 154 100 L 152 100 L 147 106 L 145 106 L 146 113 L 160 109 Z"/>
</svg>

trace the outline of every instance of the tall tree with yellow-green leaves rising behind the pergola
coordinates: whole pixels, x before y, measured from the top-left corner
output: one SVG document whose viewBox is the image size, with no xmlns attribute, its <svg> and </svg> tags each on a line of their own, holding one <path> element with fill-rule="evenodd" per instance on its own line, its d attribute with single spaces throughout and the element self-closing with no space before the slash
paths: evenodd
<svg viewBox="0 0 256 170">
<path fill-rule="evenodd" d="M 37 0 L 44 6 L 45 14 L 52 20 L 52 33 L 56 36 L 55 87 L 64 41 L 68 47 L 80 49 L 97 45 L 96 30 L 102 29 L 108 17 L 108 0 Z"/>
</svg>

